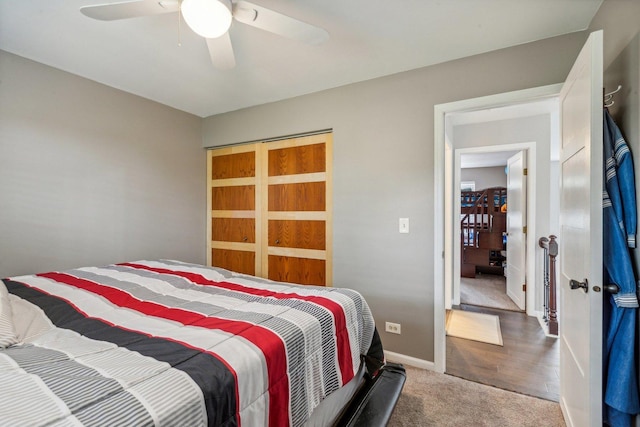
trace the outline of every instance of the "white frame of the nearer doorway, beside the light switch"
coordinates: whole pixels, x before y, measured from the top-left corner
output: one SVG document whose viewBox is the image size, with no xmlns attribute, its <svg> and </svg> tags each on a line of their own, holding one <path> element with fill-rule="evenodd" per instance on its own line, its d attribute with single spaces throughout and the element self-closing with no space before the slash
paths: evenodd
<svg viewBox="0 0 640 427">
<path fill-rule="evenodd" d="M 434 370 L 438 372 L 444 372 L 446 369 L 446 336 L 444 330 L 445 324 L 445 276 L 447 279 L 453 278 L 451 273 L 455 268 L 454 251 L 445 251 L 445 242 L 448 245 L 448 239 L 445 239 L 445 204 L 451 206 L 450 200 L 445 200 L 446 194 L 454 194 L 452 189 L 445 188 L 445 182 L 450 183 L 452 180 L 445 179 L 445 172 L 450 172 L 453 165 L 446 164 L 445 162 L 445 116 L 448 113 L 472 111 L 486 108 L 496 108 L 506 106 L 510 104 L 531 102 L 544 98 L 558 96 L 562 84 L 555 84 L 549 86 L 542 86 L 532 89 L 524 89 L 514 92 L 507 92 L 497 95 L 490 95 L 480 98 L 467 99 L 463 101 L 450 102 L 447 104 L 439 104 L 434 106 L 434 179 L 433 179 L 433 194 L 434 194 L 434 221 L 433 221 L 433 233 L 434 233 L 434 262 L 433 262 L 433 289 L 434 289 Z M 505 146 L 501 146 L 501 151 L 504 151 Z M 533 181 L 533 180 L 531 180 Z M 458 179 L 459 185 L 459 179 Z M 534 190 L 531 189 L 531 193 Z M 459 201 L 458 201 L 459 203 Z M 451 212 L 449 212 L 451 215 Z M 458 221 L 459 222 L 459 221 Z M 458 224 L 459 226 L 459 224 Z M 529 234 L 531 238 L 535 240 L 533 233 Z M 451 236 L 451 234 L 449 234 Z M 529 237 L 527 237 L 527 241 Z M 453 253 L 452 253 L 453 252 Z M 459 254 L 458 263 L 459 263 Z M 458 267 L 459 268 L 459 267 Z M 533 299 L 533 298 L 532 298 Z"/>
</svg>

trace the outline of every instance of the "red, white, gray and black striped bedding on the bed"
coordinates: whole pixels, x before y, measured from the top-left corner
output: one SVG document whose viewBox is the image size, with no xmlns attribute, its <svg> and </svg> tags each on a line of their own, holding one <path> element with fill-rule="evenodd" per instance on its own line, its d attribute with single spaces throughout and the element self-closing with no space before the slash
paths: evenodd
<svg viewBox="0 0 640 427">
<path fill-rule="evenodd" d="M 375 329 L 355 291 L 178 261 L 3 282 L 0 425 L 301 426 Z"/>
</svg>

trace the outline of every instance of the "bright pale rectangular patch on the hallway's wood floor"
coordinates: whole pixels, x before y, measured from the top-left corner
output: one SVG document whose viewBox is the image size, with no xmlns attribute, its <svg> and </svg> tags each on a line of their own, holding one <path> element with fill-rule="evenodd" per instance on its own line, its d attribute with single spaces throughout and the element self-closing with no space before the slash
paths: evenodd
<svg viewBox="0 0 640 427">
<path fill-rule="evenodd" d="M 503 345 L 500 318 L 493 314 L 447 310 L 445 330 L 450 337 Z"/>
</svg>

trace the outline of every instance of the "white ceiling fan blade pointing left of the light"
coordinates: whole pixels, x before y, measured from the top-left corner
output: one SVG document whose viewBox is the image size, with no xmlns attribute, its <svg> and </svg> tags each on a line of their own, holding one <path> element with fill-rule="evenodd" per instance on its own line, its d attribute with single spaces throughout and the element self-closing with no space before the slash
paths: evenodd
<svg viewBox="0 0 640 427">
<path fill-rule="evenodd" d="M 180 3 L 177 0 L 141 0 L 83 6 L 80 8 L 80 12 L 89 18 L 100 21 L 115 21 L 117 19 L 177 12 L 179 9 Z"/>
</svg>

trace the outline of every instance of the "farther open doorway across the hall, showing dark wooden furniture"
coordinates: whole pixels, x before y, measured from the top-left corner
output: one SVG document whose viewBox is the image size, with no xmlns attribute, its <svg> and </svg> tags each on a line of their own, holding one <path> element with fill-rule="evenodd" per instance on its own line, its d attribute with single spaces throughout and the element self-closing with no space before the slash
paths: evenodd
<svg viewBox="0 0 640 427">
<path fill-rule="evenodd" d="M 452 300 L 524 311 L 527 151 L 459 151 L 461 259 Z"/>
</svg>

